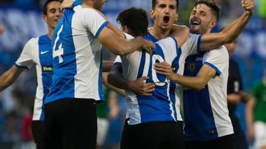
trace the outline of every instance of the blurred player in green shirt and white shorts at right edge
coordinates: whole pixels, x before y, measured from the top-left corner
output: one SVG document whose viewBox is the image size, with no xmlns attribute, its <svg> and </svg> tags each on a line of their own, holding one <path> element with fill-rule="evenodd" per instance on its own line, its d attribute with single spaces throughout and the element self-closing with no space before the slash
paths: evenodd
<svg viewBox="0 0 266 149">
<path fill-rule="evenodd" d="M 266 70 L 261 81 L 252 88 L 253 100 L 247 104 L 248 136 L 255 138 L 258 149 L 266 149 Z"/>
</svg>

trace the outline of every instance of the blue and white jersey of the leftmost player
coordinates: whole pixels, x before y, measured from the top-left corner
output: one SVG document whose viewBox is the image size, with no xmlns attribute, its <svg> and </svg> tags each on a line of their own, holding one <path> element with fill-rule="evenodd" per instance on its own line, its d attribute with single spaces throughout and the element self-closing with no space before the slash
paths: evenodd
<svg viewBox="0 0 266 149">
<path fill-rule="evenodd" d="M 49 93 L 53 76 L 52 41 L 47 35 L 30 39 L 16 61 L 17 67 L 30 69 L 36 65 L 37 82 L 33 120 L 44 120 L 44 100 Z"/>
</svg>

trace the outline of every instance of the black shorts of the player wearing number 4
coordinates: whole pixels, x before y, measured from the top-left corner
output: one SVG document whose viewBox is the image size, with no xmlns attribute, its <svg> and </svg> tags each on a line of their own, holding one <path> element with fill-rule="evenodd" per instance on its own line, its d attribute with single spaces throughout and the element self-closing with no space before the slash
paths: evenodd
<svg viewBox="0 0 266 149">
<path fill-rule="evenodd" d="M 44 106 L 44 149 L 95 149 L 96 103 L 64 98 Z"/>
</svg>

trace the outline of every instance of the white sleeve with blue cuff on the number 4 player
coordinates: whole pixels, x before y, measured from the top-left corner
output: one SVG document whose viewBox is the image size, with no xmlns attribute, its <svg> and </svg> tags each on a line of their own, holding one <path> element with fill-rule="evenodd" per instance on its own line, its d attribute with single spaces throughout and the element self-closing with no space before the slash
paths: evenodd
<svg viewBox="0 0 266 149">
<path fill-rule="evenodd" d="M 96 38 L 99 37 L 102 29 L 108 24 L 96 10 L 92 8 L 83 8 L 80 16 L 81 24 L 91 32 Z"/>
</svg>

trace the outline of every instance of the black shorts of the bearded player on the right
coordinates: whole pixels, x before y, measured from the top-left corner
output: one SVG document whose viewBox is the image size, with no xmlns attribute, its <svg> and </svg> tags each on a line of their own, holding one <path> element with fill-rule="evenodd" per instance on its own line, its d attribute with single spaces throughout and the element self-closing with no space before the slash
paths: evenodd
<svg viewBox="0 0 266 149">
<path fill-rule="evenodd" d="M 235 135 L 226 135 L 209 141 L 185 141 L 186 149 L 235 149 Z"/>
</svg>

